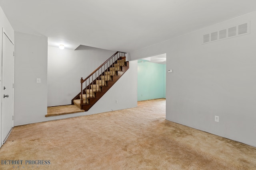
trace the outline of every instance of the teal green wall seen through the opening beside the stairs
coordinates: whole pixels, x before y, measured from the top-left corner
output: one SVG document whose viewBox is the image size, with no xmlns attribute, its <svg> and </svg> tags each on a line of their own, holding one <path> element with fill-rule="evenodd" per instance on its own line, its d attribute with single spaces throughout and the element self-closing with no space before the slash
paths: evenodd
<svg viewBox="0 0 256 170">
<path fill-rule="evenodd" d="M 165 98 L 165 91 L 166 64 L 138 60 L 138 101 Z"/>
</svg>

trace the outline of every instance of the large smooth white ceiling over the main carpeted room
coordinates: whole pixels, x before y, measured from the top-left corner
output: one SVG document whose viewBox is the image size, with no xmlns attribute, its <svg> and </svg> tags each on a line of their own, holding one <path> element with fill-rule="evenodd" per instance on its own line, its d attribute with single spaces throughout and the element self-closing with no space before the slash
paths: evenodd
<svg viewBox="0 0 256 170">
<path fill-rule="evenodd" d="M 0 0 L 15 31 L 48 45 L 131 52 L 249 12 L 256 0 Z"/>
</svg>

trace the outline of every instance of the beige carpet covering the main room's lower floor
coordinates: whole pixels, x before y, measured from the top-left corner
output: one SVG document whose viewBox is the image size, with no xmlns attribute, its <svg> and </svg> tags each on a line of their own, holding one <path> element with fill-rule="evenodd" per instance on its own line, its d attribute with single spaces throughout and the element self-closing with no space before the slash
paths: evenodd
<svg viewBox="0 0 256 170">
<path fill-rule="evenodd" d="M 255 170 L 256 148 L 165 120 L 159 99 L 14 127 L 0 160 L 50 161 L 22 164 L 34 170 Z M 13 167 L 0 164 L 1 170 Z"/>
</svg>

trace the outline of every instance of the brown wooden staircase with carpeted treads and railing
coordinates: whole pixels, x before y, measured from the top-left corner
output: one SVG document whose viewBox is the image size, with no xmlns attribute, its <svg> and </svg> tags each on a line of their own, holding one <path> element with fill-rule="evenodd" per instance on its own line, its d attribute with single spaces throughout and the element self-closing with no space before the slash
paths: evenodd
<svg viewBox="0 0 256 170">
<path fill-rule="evenodd" d="M 116 52 L 87 78 L 81 78 L 81 92 L 72 99 L 72 104 L 88 111 L 129 69 L 125 56 L 126 53 Z"/>
</svg>

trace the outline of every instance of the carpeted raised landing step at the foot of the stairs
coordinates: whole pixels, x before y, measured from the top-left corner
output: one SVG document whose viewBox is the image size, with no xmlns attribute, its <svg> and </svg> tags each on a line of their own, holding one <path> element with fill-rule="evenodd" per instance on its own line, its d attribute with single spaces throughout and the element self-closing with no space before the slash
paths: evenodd
<svg viewBox="0 0 256 170">
<path fill-rule="evenodd" d="M 45 115 L 45 117 L 66 115 L 66 114 L 78 113 L 78 112 L 84 112 L 84 110 L 79 109 L 75 105 L 53 106 L 53 107 L 47 107 L 47 115 Z"/>
</svg>

